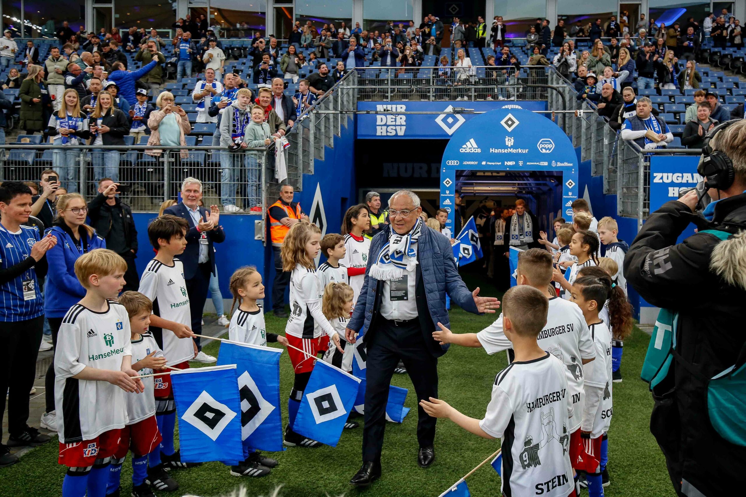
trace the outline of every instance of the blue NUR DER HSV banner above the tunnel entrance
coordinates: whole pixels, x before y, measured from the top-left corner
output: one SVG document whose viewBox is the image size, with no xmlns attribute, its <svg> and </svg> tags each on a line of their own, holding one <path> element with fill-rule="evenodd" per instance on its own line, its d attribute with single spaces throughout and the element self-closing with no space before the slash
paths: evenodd
<svg viewBox="0 0 746 497">
<path fill-rule="evenodd" d="M 474 112 L 495 109 L 547 110 L 546 101 L 478 102 L 358 102 L 357 110 L 376 111 L 357 115 L 357 138 L 449 139 L 466 121 L 481 114 L 451 113 L 454 107 Z M 383 112 L 390 112 L 383 114 Z M 405 114 L 427 112 L 433 114 Z M 379 114 L 380 113 L 380 114 Z"/>
</svg>

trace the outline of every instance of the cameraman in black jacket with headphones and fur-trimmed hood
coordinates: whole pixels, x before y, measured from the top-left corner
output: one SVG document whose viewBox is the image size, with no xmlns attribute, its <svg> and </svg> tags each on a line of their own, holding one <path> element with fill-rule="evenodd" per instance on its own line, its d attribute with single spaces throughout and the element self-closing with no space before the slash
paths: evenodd
<svg viewBox="0 0 746 497">
<path fill-rule="evenodd" d="M 627 284 L 653 306 L 677 314 L 672 331 L 680 357 L 653 388 L 651 432 L 680 496 L 732 493 L 746 467 L 746 447 L 712 428 L 704 380 L 736 364 L 746 338 L 746 120 L 730 122 L 710 146 L 733 161 L 733 182 L 710 174 L 708 180 L 721 184 L 707 191 L 712 202 L 701 213 L 693 212 L 696 190 L 665 203 L 645 221 L 624 259 Z M 677 244 L 690 222 L 698 233 Z M 740 234 L 721 241 L 706 229 Z"/>
</svg>

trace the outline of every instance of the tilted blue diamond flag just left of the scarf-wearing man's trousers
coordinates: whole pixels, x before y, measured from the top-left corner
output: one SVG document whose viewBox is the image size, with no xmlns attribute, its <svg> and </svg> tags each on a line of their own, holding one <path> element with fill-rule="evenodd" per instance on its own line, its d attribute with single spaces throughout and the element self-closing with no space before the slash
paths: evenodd
<svg viewBox="0 0 746 497">
<path fill-rule="evenodd" d="M 324 361 L 316 361 L 292 431 L 336 447 L 357 396 L 360 379 Z"/>
</svg>

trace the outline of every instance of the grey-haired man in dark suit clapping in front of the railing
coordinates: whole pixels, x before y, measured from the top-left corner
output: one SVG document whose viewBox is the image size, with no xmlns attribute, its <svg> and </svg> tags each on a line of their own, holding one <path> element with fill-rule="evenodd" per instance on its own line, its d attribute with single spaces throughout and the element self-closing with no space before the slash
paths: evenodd
<svg viewBox="0 0 746 497">
<path fill-rule="evenodd" d="M 171 206 L 163 214 L 173 214 L 186 219 L 189 231 L 186 232 L 186 249 L 178 259 L 184 264 L 186 293 L 189 295 L 189 310 L 192 313 L 192 332 L 202 333 L 202 310 L 210 288 L 210 274 L 215 273 L 215 250 L 213 243 L 222 243 L 225 232 L 218 224 L 219 206 L 210 209 L 199 206 L 202 198 L 202 183 L 197 178 L 188 177 L 181 183 L 181 203 Z M 199 337 L 194 339 L 198 353 L 194 358 L 199 362 L 217 361 L 212 355 L 202 352 Z"/>
</svg>

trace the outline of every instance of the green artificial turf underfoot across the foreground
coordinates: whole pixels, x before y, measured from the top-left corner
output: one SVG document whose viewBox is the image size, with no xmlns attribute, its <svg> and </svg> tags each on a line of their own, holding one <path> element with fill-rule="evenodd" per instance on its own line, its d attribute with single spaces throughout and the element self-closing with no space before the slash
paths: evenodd
<svg viewBox="0 0 746 497">
<path fill-rule="evenodd" d="M 474 285 L 469 284 L 469 288 Z M 492 293 L 490 293 L 492 292 Z M 483 295 L 495 295 L 483 286 Z M 457 308 L 451 311 L 454 332 L 478 332 L 492 323 L 495 315 L 475 316 Z M 284 320 L 266 315 L 268 332 L 281 333 Z M 272 344 L 277 345 L 277 344 Z M 614 384 L 614 417 L 609 430 L 609 474 L 606 496 L 674 496 L 665 461 L 648 430 L 653 401 L 645 383 L 639 380 L 648 335 L 635 329 L 624 343 L 621 370 L 624 382 Z M 219 342 L 205 344 L 205 352 L 218 355 Z M 439 360 L 439 396 L 463 413 L 481 418 L 489 402 L 495 375 L 507 364 L 504 354 L 489 356 L 482 349 L 452 346 Z M 200 366 L 203 364 L 193 364 Z M 287 354 L 280 360 L 280 398 L 283 420 L 287 420 L 286 399 L 292 388 L 292 367 Z M 281 496 L 439 496 L 449 485 L 499 447 L 499 440 L 484 440 L 439 420 L 435 440 L 436 460 L 428 469 L 417 466 L 416 398 L 407 375 L 395 375 L 392 384 L 410 389 L 406 405 L 412 411 L 404 423 L 386 424 L 383 443 L 383 477 L 367 490 L 355 490 L 349 479 L 360 468 L 363 428 L 345 430 L 336 448 L 292 447 L 285 452 L 267 453 L 280 464 L 264 478 L 235 478 L 221 463 L 205 463 L 194 469 L 172 471 L 180 489 L 161 496 L 222 496 L 240 485 L 248 496 L 267 496 L 279 485 Z M 362 425 L 362 419 L 361 425 Z M 122 469 L 122 496 L 131 488 L 131 460 Z M 19 463 L 0 469 L 0 496 L 59 496 L 65 474 L 57 465 L 56 438 L 52 443 L 25 455 Z M 498 496 L 500 481 L 489 466 L 483 466 L 467 480 L 471 495 Z M 587 495 L 587 491 L 583 492 Z M 558 496 L 559 497 L 559 496 Z"/>
</svg>

